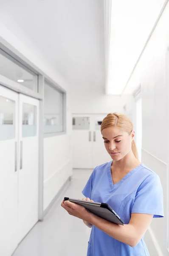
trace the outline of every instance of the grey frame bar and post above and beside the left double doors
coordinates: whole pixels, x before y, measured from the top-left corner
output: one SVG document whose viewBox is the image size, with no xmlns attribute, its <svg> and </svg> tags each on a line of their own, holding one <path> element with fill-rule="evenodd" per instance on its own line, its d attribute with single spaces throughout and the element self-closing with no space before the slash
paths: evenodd
<svg viewBox="0 0 169 256">
<path fill-rule="evenodd" d="M 6 87 L 17 93 L 22 93 L 34 99 L 39 100 L 39 184 L 38 184 L 38 221 L 43 221 L 43 147 L 44 147 L 44 133 L 43 133 L 43 102 L 44 102 L 44 76 L 39 75 L 38 88 L 39 93 L 34 92 L 5 76 L 0 75 L 0 85 Z"/>
</svg>

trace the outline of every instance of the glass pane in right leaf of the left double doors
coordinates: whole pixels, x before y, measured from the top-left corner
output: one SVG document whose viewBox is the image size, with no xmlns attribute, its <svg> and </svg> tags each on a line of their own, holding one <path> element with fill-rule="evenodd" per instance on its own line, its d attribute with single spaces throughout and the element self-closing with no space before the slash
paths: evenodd
<svg viewBox="0 0 169 256">
<path fill-rule="evenodd" d="M 37 135 L 37 106 L 23 103 L 23 137 Z"/>
</svg>

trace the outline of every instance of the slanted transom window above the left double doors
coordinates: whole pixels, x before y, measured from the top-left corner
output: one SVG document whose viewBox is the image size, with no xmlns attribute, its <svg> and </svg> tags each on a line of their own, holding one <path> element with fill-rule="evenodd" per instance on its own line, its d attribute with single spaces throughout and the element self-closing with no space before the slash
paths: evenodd
<svg viewBox="0 0 169 256">
<path fill-rule="evenodd" d="M 7 53 L 0 50 L 0 75 L 38 91 L 38 76 L 27 67 L 20 64 Z"/>
</svg>

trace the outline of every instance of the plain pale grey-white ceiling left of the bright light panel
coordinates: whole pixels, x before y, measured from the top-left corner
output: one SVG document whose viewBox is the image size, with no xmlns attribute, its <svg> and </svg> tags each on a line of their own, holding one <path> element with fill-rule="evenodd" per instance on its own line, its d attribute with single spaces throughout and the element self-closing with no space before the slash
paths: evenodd
<svg viewBox="0 0 169 256">
<path fill-rule="evenodd" d="M 0 20 L 70 85 L 104 87 L 102 0 L 0 0 Z"/>
</svg>

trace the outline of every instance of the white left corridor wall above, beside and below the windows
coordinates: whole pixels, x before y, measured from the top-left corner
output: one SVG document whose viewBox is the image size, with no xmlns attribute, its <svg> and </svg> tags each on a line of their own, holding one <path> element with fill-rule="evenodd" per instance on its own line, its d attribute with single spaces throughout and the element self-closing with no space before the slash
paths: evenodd
<svg viewBox="0 0 169 256">
<path fill-rule="evenodd" d="M 67 134 L 44 139 L 44 209 L 46 209 L 72 172 L 71 154 L 69 154 L 71 152 L 69 86 L 57 70 L 51 67 L 42 55 L 37 54 L 36 48 L 32 47 L 29 41 L 23 44 L 3 23 L 0 23 L 0 41 L 4 40 L 67 92 Z"/>
</svg>

